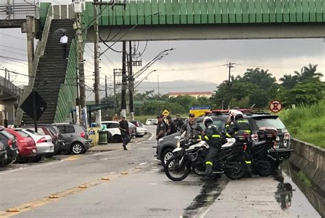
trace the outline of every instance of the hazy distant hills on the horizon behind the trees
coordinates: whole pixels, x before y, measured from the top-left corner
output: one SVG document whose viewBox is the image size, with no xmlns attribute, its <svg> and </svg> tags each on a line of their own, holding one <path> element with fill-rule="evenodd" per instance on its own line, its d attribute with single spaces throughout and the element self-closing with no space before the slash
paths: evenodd
<svg viewBox="0 0 325 218">
<path fill-rule="evenodd" d="M 104 81 L 101 81 L 104 83 Z M 107 84 L 108 87 L 112 87 L 112 83 Z M 214 92 L 217 90 L 217 83 L 207 83 L 205 81 L 195 80 L 176 80 L 159 82 L 159 93 L 166 94 L 167 92 Z M 105 90 L 105 86 L 101 85 L 101 90 Z M 136 92 L 143 93 L 145 91 L 154 90 L 155 94 L 158 94 L 158 83 L 157 82 L 142 82 L 136 87 Z M 121 92 L 121 87 L 117 90 Z M 112 93 L 112 90 L 108 90 L 108 95 Z M 94 100 L 95 95 L 86 91 L 86 96 L 89 96 L 87 100 Z M 105 91 L 101 91 L 101 97 L 105 96 Z"/>
</svg>

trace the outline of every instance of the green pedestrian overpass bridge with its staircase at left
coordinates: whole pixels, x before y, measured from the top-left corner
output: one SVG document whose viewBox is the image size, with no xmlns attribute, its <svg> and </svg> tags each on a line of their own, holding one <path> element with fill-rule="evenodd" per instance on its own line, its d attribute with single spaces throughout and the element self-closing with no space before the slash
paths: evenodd
<svg viewBox="0 0 325 218">
<path fill-rule="evenodd" d="M 127 1 L 125 7 L 121 5 L 114 7 L 97 5 L 97 7 L 100 13 L 99 34 L 108 42 L 325 38 L 325 1 L 322 0 L 138 0 Z M 60 74 L 56 74 L 60 76 L 52 79 L 53 81 L 49 69 L 45 69 L 44 66 L 51 64 L 53 57 L 49 54 L 56 56 L 56 53 L 51 53 L 55 41 L 47 41 L 50 29 L 53 31 L 56 26 L 64 28 L 62 24 L 65 21 L 58 23 L 58 20 L 73 21 L 74 14 L 71 5 L 52 6 L 51 3 L 40 3 L 40 9 L 39 20 L 40 26 L 44 29 L 42 37 L 45 40 L 39 42 L 40 51 L 36 51 L 36 57 L 40 60 L 34 64 L 36 80 L 32 81 L 27 90 L 32 90 L 36 84 L 42 89 L 44 84 L 40 83 L 39 78 L 47 79 L 47 83 L 56 86 L 58 94 L 48 96 L 48 101 L 53 104 L 53 110 L 48 111 L 48 115 L 45 111 L 44 122 L 65 122 L 75 106 L 76 81 L 73 79 L 76 68 L 75 49 L 70 49 L 66 66 Z M 93 41 L 91 27 L 93 20 L 93 4 L 86 2 L 82 12 L 85 42 Z M 72 28 L 71 22 L 65 23 L 69 24 L 66 29 Z M 73 38 L 73 34 L 71 36 Z M 74 44 L 73 39 L 71 48 Z M 47 53 L 48 57 L 43 55 L 44 53 Z M 17 114 L 22 118 L 22 113 Z"/>
</svg>

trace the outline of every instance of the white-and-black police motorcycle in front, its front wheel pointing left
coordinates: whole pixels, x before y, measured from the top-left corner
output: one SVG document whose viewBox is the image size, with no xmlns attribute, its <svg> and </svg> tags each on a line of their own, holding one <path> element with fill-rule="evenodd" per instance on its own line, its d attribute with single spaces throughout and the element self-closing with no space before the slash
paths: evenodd
<svg viewBox="0 0 325 218">
<path fill-rule="evenodd" d="M 245 154 L 242 146 L 238 146 L 236 139 L 222 137 L 221 150 L 213 163 L 213 174 L 226 174 L 231 179 L 242 178 L 247 169 Z M 191 169 L 197 175 L 204 174 L 206 155 L 209 146 L 206 141 L 190 139 L 184 140 L 184 133 L 180 136 L 178 148 L 173 150 L 174 156 L 165 164 L 165 174 L 173 181 L 184 180 Z"/>
</svg>

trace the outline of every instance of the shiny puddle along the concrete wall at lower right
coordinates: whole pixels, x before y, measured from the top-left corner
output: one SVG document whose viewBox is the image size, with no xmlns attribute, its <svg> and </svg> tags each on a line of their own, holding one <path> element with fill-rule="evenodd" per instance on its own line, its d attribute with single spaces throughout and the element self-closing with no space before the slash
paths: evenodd
<svg viewBox="0 0 325 218">
<path fill-rule="evenodd" d="M 278 190 L 274 193 L 280 208 L 289 217 L 325 217 L 325 196 L 317 187 L 309 187 L 300 180 L 287 161 L 274 174 Z"/>
</svg>

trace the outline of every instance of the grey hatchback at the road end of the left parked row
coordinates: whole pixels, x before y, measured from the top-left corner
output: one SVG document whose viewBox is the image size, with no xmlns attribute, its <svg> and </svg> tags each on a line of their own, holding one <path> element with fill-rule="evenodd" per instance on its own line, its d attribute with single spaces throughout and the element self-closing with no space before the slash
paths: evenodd
<svg viewBox="0 0 325 218">
<path fill-rule="evenodd" d="M 84 154 L 91 148 L 91 141 L 88 139 L 86 130 L 77 124 L 53 124 L 62 133 L 64 146 L 61 146 L 62 154 Z"/>
</svg>

